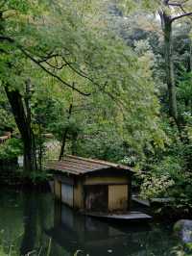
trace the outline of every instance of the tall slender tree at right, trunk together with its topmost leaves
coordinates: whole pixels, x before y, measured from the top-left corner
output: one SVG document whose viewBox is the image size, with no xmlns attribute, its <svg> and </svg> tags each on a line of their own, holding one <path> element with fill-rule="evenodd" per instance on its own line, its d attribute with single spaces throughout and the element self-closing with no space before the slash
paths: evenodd
<svg viewBox="0 0 192 256">
<path fill-rule="evenodd" d="M 166 84 L 169 97 L 169 113 L 177 123 L 180 129 L 180 117 L 178 113 L 177 91 L 175 82 L 175 70 L 173 62 L 173 24 L 184 18 L 192 16 L 192 2 L 191 0 L 160 0 L 160 1 L 126 1 L 125 4 L 131 6 L 139 6 L 144 10 L 158 13 L 161 20 L 161 29 L 164 37 L 164 60 L 166 72 Z M 130 7 L 130 5 L 128 5 Z"/>
</svg>

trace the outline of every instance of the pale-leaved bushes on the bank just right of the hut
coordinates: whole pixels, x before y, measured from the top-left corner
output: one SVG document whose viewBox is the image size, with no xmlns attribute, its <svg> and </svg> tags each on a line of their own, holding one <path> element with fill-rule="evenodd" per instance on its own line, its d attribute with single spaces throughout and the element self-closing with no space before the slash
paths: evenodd
<svg viewBox="0 0 192 256">
<path fill-rule="evenodd" d="M 150 173 L 141 175 L 143 178 L 141 196 L 172 197 L 174 199 L 172 206 L 175 209 L 185 209 L 187 212 L 192 208 L 192 174 L 184 169 L 186 165 L 184 157 L 180 158 L 179 154 L 164 157 L 153 166 Z"/>
</svg>

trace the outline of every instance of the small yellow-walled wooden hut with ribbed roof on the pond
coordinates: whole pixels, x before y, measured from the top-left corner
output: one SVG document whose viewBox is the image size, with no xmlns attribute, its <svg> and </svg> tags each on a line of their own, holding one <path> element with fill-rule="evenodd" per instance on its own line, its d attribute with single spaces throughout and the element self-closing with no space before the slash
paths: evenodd
<svg viewBox="0 0 192 256">
<path fill-rule="evenodd" d="M 54 170 L 55 195 L 66 205 L 86 212 L 130 210 L 130 167 L 67 155 L 47 168 Z"/>
</svg>

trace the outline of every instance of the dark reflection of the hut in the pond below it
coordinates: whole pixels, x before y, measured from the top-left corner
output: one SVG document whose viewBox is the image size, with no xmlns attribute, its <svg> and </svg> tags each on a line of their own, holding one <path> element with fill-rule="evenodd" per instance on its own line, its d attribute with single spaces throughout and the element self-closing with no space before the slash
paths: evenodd
<svg viewBox="0 0 192 256">
<path fill-rule="evenodd" d="M 115 256 L 127 256 L 130 253 L 137 255 L 137 252 L 142 250 L 137 236 L 142 233 L 142 236 L 146 237 L 150 227 L 140 224 L 129 225 L 126 230 L 124 227 L 125 225 L 111 225 L 95 218 L 84 217 L 64 204 L 56 203 L 55 223 L 46 233 L 53 238 L 52 249 L 61 246 L 70 255 L 81 250 L 78 255 L 106 256 L 108 249 Z"/>
</svg>

